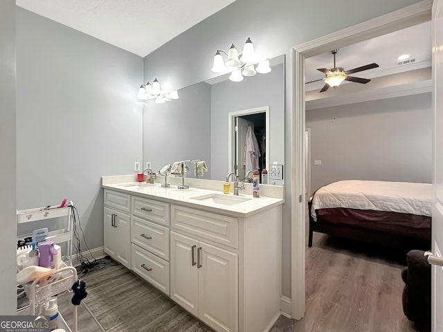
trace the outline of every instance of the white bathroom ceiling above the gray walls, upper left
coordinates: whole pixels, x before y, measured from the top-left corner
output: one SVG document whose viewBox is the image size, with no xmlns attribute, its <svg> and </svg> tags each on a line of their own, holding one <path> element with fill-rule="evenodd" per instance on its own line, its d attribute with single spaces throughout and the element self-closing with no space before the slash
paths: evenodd
<svg viewBox="0 0 443 332">
<path fill-rule="evenodd" d="M 145 57 L 235 0 L 17 0 L 17 6 Z"/>
</svg>

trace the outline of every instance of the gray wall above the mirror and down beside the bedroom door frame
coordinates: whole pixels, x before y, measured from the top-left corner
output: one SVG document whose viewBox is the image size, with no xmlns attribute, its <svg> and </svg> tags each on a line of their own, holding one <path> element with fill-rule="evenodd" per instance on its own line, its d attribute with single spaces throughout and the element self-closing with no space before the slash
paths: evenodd
<svg viewBox="0 0 443 332">
<path fill-rule="evenodd" d="M 289 62 L 293 46 L 417 2 L 237 0 L 145 57 L 145 81 L 158 77 L 163 88 L 170 91 L 215 77 L 210 71 L 215 51 L 227 51 L 231 43 L 241 49 L 247 37 L 251 37 L 258 54 L 268 57 L 285 54 Z M 291 65 L 286 67 L 286 77 L 290 80 Z M 287 297 L 291 296 L 291 118 L 291 84 L 287 81 L 284 128 L 287 203 L 282 208 L 282 294 Z"/>
</svg>

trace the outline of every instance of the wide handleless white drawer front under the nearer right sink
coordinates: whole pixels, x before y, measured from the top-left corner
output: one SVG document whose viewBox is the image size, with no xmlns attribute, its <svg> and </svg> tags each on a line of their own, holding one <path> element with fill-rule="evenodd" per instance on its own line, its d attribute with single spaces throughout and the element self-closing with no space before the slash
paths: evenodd
<svg viewBox="0 0 443 332">
<path fill-rule="evenodd" d="M 171 205 L 171 227 L 226 246 L 238 248 L 238 219 Z"/>
</svg>

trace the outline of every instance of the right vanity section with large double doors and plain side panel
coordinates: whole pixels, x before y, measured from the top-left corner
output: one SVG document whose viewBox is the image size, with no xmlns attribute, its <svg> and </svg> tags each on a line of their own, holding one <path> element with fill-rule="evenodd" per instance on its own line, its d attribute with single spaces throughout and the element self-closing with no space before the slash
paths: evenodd
<svg viewBox="0 0 443 332">
<path fill-rule="evenodd" d="M 170 297 L 215 331 L 269 331 L 280 315 L 280 215 L 172 204 Z"/>
</svg>

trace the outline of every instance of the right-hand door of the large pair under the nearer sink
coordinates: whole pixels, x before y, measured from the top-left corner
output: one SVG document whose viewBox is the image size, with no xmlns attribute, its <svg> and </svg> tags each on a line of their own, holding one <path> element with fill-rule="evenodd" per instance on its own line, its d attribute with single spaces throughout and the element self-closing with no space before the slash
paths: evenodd
<svg viewBox="0 0 443 332">
<path fill-rule="evenodd" d="M 199 318 L 216 331 L 238 331 L 238 255 L 200 242 Z"/>
</svg>

